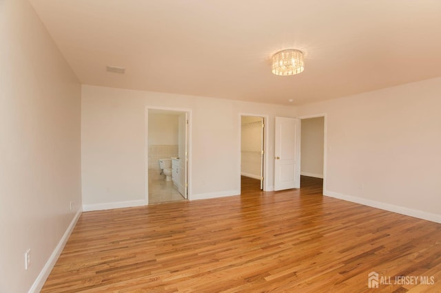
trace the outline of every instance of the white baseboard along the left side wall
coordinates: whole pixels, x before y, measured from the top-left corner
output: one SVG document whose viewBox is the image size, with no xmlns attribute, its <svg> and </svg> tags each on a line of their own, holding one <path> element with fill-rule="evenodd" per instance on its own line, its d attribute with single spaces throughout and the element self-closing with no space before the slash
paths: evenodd
<svg viewBox="0 0 441 293">
<path fill-rule="evenodd" d="M 70 221 L 68 228 L 65 230 L 63 237 L 61 237 L 54 251 L 52 252 L 52 254 L 50 254 L 48 261 L 46 261 L 43 269 L 41 270 L 40 274 L 37 276 L 37 279 L 35 279 L 34 283 L 30 287 L 29 290 L 30 293 L 41 291 L 41 288 L 43 287 L 46 279 L 48 279 L 48 276 L 52 271 L 52 268 L 54 268 L 55 263 L 57 263 L 57 259 L 59 258 L 61 252 L 63 251 L 66 242 L 68 242 L 70 234 L 72 233 L 72 230 L 74 230 L 76 222 L 78 221 L 81 213 L 82 210 L 81 208 L 79 208 L 72 221 Z"/>
</svg>

